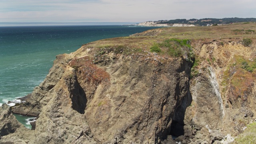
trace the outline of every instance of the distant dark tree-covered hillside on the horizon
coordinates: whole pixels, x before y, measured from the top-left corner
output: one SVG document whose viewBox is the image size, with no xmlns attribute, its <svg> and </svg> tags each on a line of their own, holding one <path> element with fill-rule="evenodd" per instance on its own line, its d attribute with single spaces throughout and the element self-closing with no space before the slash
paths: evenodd
<svg viewBox="0 0 256 144">
<path fill-rule="evenodd" d="M 198 26 L 206 26 L 207 24 L 230 24 L 238 22 L 256 22 L 256 18 L 202 18 L 202 19 L 175 19 L 175 20 L 159 20 L 158 24 L 194 24 Z"/>
</svg>

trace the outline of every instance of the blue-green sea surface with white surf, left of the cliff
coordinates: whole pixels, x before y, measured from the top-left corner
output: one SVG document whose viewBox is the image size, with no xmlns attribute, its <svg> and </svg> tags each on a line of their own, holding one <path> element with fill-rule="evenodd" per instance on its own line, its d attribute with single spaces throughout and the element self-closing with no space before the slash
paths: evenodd
<svg viewBox="0 0 256 144">
<path fill-rule="evenodd" d="M 0 105 L 30 94 L 44 80 L 56 55 L 152 28 L 156 27 L 0 26 Z M 22 121 L 23 117 L 16 117 Z"/>
</svg>

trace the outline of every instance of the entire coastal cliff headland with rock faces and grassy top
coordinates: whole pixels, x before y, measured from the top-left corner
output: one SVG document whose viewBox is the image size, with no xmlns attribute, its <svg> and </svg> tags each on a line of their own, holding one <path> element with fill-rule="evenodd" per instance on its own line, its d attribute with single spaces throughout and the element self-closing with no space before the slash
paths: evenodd
<svg viewBox="0 0 256 144">
<path fill-rule="evenodd" d="M 58 55 L 26 102 L 1 107 L 0 142 L 232 142 L 255 119 L 253 26 L 148 30 Z M 11 110 L 38 116 L 35 130 Z"/>
</svg>

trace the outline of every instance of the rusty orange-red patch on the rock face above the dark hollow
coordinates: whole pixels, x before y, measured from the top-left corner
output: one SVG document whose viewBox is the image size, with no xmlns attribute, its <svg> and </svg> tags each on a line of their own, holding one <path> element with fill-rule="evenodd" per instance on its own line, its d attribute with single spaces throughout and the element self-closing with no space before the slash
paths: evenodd
<svg viewBox="0 0 256 144">
<path fill-rule="evenodd" d="M 79 79 L 84 82 L 93 82 L 99 84 L 102 81 L 109 81 L 109 74 L 96 66 L 92 58 L 84 56 L 82 58 L 74 58 L 70 61 L 69 65 L 76 70 Z"/>
</svg>

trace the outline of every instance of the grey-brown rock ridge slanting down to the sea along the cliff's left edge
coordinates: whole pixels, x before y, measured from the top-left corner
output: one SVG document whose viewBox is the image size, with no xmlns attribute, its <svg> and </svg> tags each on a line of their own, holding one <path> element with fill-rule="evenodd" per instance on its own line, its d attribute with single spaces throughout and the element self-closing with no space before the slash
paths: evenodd
<svg viewBox="0 0 256 144">
<path fill-rule="evenodd" d="M 30 96 L 26 99 L 25 103 L 15 106 L 12 109 L 12 112 L 25 116 L 38 116 L 41 112 L 41 108 L 52 98 L 48 95 L 48 91 L 50 91 L 62 78 L 66 64 L 69 61 L 70 56 L 66 54 L 56 56 L 54 65 L 44 81 L 34 88 L 32 94 L 29 94 Z"/>
</svg>

